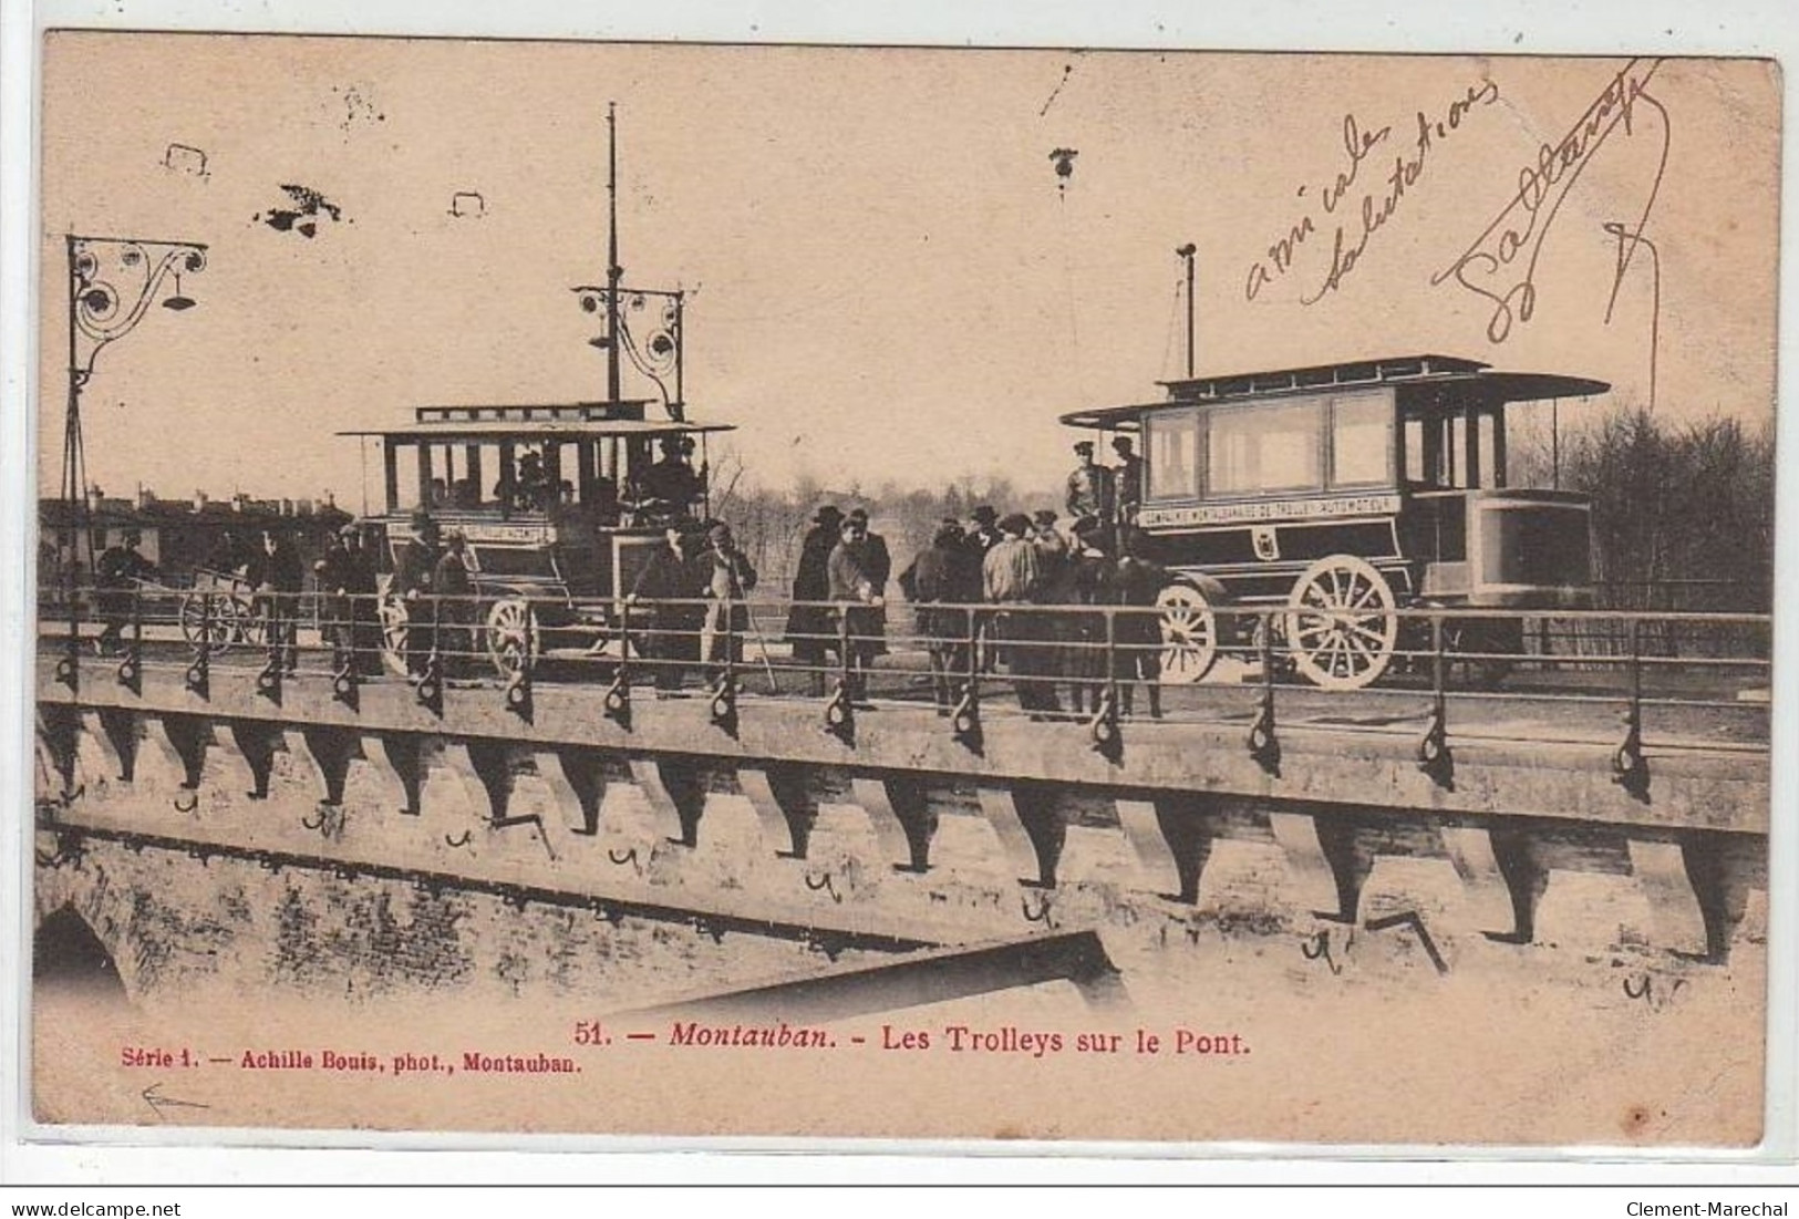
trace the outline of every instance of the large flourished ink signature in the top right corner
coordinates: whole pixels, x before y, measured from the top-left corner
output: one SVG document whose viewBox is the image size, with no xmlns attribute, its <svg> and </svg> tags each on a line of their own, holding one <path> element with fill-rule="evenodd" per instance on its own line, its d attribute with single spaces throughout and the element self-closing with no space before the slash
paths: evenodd
<svg viewBox="0 0 1799 1219">
<path fill-rule="evenodd" d="M 1542 259 L 1544 243 L 1562 210 L 1563 200 L 1592 164 L 1594 155 L 1605 146 L 1612 131 L 1624 128 L 1624 137 L 1635 135 L 1637 110 L 1650 108 L 1660 115 L 1662 147 L 1655 164 L 1655 180 L 1650 183 L 1648 198 L 1635 225 L 1608 223 L 1605 230 L 1617 239 L 1617 261 L 1612 275 L 1612 304 L 1617 302 L 1619 284 L 1630 270 L 1637 246 L 1650 246 L 1642 236 L 1650 212 L 1655 209 L 1655 196 L 1662 187 L 1662 173 L 1668 169 L 1668 146 L 1671 131 L 1668 126 L 1668 108 L 1650 92 L 1650 79 L 1660 67 L 1660 59 L 1632 59 L 1587 106 L 1585 113 L 1574 120 L 1569 133 L 1554 146 L 1542 144 L 1536 160 L 1518 171 L 1518 191 L 1506 201 L 1493 221 L 1481 230 L 1481 236 L 1463 250 L 1455 261 L 1430 277 L 1432 286 L 1454 279 L 1457 284 L 1493 302 L 1488 316 L 1486 336 L 1493 343 L 1504 343 L 1513 324 L 1526 324 L 1536 311 L 1536 268 Z M 1653 255 L 1653 246 L 1650 248 Z M 1659 268 L 1657 268 L 1659 279 Z M 1659 286 L 1657 286 L 1659 295 Z M 1607 307 L 1610 322 L 1612 307 Z"/>
</svg>

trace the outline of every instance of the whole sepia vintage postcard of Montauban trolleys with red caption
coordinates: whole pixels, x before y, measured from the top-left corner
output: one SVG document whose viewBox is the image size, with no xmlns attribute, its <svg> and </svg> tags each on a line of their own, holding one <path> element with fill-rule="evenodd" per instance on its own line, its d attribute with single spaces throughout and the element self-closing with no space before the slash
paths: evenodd
<svg viewBox="0 0 1799 1219">
<path fill-rule="evenodd" d="M 1772 61 L 41 99 L 43 1127 L 1763 1138 Z"/>
</svg>

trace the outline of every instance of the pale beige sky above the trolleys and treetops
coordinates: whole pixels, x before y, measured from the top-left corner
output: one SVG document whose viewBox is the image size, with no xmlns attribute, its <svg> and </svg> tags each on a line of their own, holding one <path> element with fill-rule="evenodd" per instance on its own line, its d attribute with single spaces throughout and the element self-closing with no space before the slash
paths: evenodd
<svg viewBox="0 0 1799 1219">
<path fill-rule="evenodd" d="M 689 414 L 761 485 L 1052 484 L 1060 414 L 1184 370 L 1184 243 L 1200 374 L 1443 352 L 1648 405 L 1653 365 L 1659 415 L 1772 415 L 1765 61 L 88 32 L 43 59 L 43 487 L 67 232 L 209 245 L 85 392 L 110 494 L 356 509 L 340 430 L 601 397 L 608 102 L 626 284 L 691 293 Z M 270 227 L 290 183 L 338 219 Z"/>
</svg>

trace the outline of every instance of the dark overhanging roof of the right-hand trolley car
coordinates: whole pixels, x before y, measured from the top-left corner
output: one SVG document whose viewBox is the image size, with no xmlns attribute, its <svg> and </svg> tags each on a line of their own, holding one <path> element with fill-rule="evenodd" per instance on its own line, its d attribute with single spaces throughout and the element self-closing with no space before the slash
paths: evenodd
<svg viewBox="0 0 1799 1219">
<path fill-rule="evenodd" d="M 1279 369 L 1274 372 L 1236 372 L 1184 381 L 1159 381 L 1168 397 L 1157 403 L 1101 406 L 1061 415 L 1070 428 L 1101 428 L 1106 432 L 1135 432 L 1139 417 L 1171 406 L 1252 401 L 1315 394 L 1329 388 L 1367 388 L 1380 385 L 1441 385 L 1470 387 L 1479 397 L 1504 403 L 1531 403 L 1545 397 L 1587 397 L 1612 388 L 1607 381 L 1562 376 L 1554 372 L 1493 372 L 1479 360 L 1455 356 L 1391 356 L 1358 360 L 1355 363 L 1328 363 L 1310 369 Z M 1445 403 L 1454 408 L 1459 403 Z"/>
</svg>

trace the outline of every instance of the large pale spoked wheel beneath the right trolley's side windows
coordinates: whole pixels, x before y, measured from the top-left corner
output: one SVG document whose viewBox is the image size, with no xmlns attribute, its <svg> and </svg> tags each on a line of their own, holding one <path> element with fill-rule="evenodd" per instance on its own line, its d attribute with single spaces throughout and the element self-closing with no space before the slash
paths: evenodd
<svg viewBox="0 0 1799 1219">
<path fill-rule="evenodd" d="M 1360 690 L 1392 663 L 1392 586 L 1371 563 L 1333 554 L 1306 568 L 1286 601 L 1293 667 L 1326 690 Z"/>
</svg>

